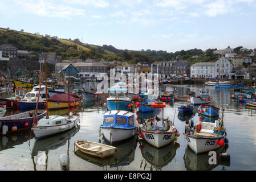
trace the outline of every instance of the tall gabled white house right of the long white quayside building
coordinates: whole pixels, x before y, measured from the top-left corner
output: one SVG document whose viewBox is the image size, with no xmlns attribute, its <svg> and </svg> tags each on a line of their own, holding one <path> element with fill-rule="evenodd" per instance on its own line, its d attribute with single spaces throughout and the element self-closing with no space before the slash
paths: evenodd
<svg viewBox="0 0 256 182">
<path fill-rule="evenodd" d="M 231 72 L 233 69 L 233 65 L 230 60 L 225 59 L 225 57 L 221 57 L 219 60 L 215 62 L 215 75 L 216 78 L 231 78 Z"/>
</svg>

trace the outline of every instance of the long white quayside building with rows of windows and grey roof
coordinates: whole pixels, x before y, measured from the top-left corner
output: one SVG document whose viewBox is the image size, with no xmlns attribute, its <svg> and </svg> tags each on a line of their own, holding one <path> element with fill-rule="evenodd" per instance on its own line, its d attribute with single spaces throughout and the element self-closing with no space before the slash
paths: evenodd
<svg viewBox="0 0 256 182">
<path fill-rule="evenodd" d="M 215 73 L 214 62 L 195 63 L 190 67 L 190 76 L 194 78 L 215 78 Z"/>
</svg>

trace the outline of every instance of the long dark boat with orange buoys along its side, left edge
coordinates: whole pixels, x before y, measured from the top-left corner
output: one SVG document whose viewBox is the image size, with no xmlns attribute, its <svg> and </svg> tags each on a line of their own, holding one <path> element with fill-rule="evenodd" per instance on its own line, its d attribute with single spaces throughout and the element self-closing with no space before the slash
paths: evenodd
<svg viewBox="0 0 256 182">
<path fill-rule="evenodd" d="M 8 115 L 0 118 L 1 134 L 30 129 L 33 123 L 35 110 L 26 111 L 14 115 Z M 46 111 L 36 111 L 36 120 L 39 121 L 46 115 Z"/>
</svg>

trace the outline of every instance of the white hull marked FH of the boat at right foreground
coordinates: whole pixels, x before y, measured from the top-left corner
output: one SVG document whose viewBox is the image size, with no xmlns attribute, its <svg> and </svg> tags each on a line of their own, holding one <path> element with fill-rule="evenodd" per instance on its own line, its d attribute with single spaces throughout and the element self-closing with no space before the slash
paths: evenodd
<svg viewBox="0 0 256 182">
<path fill-rule="evenodd" d="M 185 136 L 188 146 L 192 149 L 195 154 L 201 154 L 204 152 L 216 150 L 220 146 L 218 140 L 224 140 L 225 136 L 213 137 L 213 138 L 196 138 Z"/>
</svg>

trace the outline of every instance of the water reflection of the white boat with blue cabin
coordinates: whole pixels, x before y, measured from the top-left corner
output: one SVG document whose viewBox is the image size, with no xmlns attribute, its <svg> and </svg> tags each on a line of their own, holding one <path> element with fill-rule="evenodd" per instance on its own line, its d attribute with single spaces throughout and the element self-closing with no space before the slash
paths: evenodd
<svg viewBox="0 0 256 182">
<path fill-rule="evenodd" d="M 126 142 L 112 144 L 112 146 L 117 147 L 117 151 L 115 152 L 115 154 L 103 159 L 97 158 L 92 155 L 84 154 L 79 150 L 75 151 L 75 155 L 83 160 L 86 160 L 87 162 L 93 163 L 99 167 L 103 167 L 103 169 L 105 169 L 106 171 L 108 170 L 107 166 L 109 166 L 110 168 L 116 167 L 116 170 L 119 171 L 122 169 L 123 166 L 128 166 L 133 162 L 137 143 L 138 138 L 137 135 L 135 135 L 135 137 L 127 140 Z M 106 139 L 103 139 L 103 144 L 110 145 L 110 143 Z"/>
</svg>

